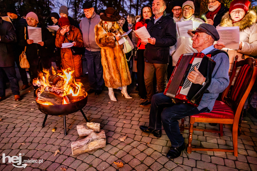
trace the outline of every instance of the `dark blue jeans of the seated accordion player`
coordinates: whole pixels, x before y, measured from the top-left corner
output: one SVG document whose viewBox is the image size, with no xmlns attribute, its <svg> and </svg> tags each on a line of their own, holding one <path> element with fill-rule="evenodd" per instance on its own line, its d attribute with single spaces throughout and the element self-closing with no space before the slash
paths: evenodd
<svg viewBox="0 0 257 171">
<path fill-rule="evenodd" d="M 166 109 L 163 110 L 165 107 Z M 149 127 L 161 130 L 163 125 L 171 146 L 179 147 L 183 145 L 184 138 L 180 134 L 178 120 L 207 110 L 207 107 L 199 111 L 196 107 L 183 103 L 172 103 L 171 98 L 166 97 L 163 93 L 154 94 L 151 101 Z"/>
</svg>

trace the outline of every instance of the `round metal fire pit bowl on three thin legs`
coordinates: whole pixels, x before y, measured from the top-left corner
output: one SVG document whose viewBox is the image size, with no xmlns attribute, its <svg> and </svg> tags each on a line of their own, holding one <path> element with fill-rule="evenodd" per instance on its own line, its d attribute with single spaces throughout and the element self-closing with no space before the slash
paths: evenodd
<svg viewBox="0 0 257 171">
<path fill-rule="evenodd" d="M 88 119 L 83 112 L 82 108 L 85 107 L 87 104 L 87 93 L 84 99 L 73 102 L 73 103 L 68 103 L 65 105 L 43 105 L 41 103 L 36 103 L 38 106 L 38 109 L 45 114 L 45 118 L 42 124 L 42 127 L 45 126 L 45 121 L 47 120 L 48 115 L 53 115 L 53 116 L 63 116 L 63 125 L 64 125 L 64 135 L 67 134 L 66 132 L 66 115 L 69 115 L 71 113 L 75 113 L 80 110 L 84 118 L 86 119 L 87 122 Z"/>
</svg>

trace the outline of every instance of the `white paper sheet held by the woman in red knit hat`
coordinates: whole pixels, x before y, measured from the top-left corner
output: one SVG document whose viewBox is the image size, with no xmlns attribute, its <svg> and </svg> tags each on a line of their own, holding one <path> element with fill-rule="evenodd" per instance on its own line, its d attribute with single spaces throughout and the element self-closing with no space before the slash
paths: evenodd
<svg viewBox="0 0 257 171">
<path fill-rule="evenodd" d="M 225 48 L 239 49 L 240 44 L 240 31 L 239 26 L 234 27 L 216 27 L 219 33 L 218 43 L 225 45 Z"/>
</svg>

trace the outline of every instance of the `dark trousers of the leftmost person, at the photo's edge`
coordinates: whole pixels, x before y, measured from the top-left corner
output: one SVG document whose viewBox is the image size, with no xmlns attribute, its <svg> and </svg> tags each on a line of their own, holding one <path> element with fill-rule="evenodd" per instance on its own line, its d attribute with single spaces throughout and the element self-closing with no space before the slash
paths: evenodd
<svg viewBox="0 0 257 171">
<path fill-rule="evenodd" d="M 16 77 L 16 71 L 14 66 L 13 67 L 0 67 L 0 97 L 5 96 L 5 88 L 4 85 L 6 84 L 4 82 L 4 73 L 6 73 L 8 79 L 10 80 L 11 90 L 13 92 L 13 95 L 20 95 L 20 87 L 19 87 L 19 80 Z"/>
</svg>

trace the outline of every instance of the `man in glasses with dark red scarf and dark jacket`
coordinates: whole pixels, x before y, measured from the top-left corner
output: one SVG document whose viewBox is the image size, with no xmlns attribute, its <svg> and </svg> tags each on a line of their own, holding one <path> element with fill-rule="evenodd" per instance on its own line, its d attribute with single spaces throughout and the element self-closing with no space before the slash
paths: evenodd
<svg viewBox="0 0 257 171">
<path fill-rule="evenodd" d="M 221 18 L 228 11 L 228 8 L 225 7 L 222 1 L 223 0 L 208 0 L 209 11 L 204 13 L 207 18 L 205 23 L 214 25 L 215 27 L 219 25 L 219 23 L 221 22 Z"/>
</svg>

